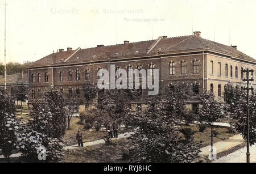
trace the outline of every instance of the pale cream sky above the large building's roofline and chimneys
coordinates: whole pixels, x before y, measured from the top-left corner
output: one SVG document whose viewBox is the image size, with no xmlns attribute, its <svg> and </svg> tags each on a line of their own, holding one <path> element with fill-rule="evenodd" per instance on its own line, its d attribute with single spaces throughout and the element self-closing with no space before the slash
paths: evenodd
<svg viewBox="0 0 256 174">
<path fill-rule="evenodd" d="M 0 0 L 0 62 L 4 60 Z M 256 2 L 250 0 L 7 0 L 7 62 L 36 61 L 67 47 L 192 35 L 256 58 Z M 214 29 L 215 28 L 215 29 Z"/>
</svg>

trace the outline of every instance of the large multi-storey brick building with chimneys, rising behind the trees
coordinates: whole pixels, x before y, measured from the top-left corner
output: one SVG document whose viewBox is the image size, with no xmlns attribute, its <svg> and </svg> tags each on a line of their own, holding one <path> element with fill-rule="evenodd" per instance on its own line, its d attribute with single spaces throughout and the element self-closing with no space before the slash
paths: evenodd
<svg viewBox="0 0 256 174">
<path fill-rule="evenodd" d="M 40 97 L 46 87 L 54 86 L 66 94 L 82 95 L 85 83 L 97 84 L 97 72 L 110 65 L 122 69 L 159 69 L 159 85 L 184 82 L 191 88 L 211 90 L 221 96 L 228 82 L 242 87 L 242 70 L 256 70 L 256 60 L 228 46 L 194 35 L 159 37 L 156 40 L 118 45 L 98 45 L 96 48 L 59 49 L 57 53 L 32 63 L 28 67 L 31 98 Z M 255 87 L 256 82 L 251 82 Z M 147 95 L 143 91 L 143 95 Z"/>
</svg>

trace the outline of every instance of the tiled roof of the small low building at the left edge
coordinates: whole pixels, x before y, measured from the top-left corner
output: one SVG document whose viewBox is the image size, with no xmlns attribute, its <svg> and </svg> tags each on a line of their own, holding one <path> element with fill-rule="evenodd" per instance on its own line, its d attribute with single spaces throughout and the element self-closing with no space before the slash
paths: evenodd
<svg viewBox="0 0 256 174">
<path fill-rule="evenodd" d="M 21 73 L 16 73 L 12 75 L 7 75 L 6 77 L 6 84 L 27 84 L 27 73 L 23 74 L 23 79 Z M 5 84 L 5 77 L 3 75 L 0 75 L 0 86 L 3 86 Z"/>
</svg>

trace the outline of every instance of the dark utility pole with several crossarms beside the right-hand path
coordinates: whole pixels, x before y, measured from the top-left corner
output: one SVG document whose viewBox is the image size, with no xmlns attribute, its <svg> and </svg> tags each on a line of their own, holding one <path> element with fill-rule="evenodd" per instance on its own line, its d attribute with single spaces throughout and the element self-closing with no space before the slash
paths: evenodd
<svg viewBox="0 0 256 174">
<path fill-rule="evenodd" d="M 247 91 L 247 117 L 246 117 L 246 121 L 247 121 L 247 139 L 246 139 L 246 143 L 247 143 L 247 152 L 246 152 L 246 162 L 250 163 L 250 114 L 249 114 L 249 90 L 253 91 L 253 87 L 249 88 L 249 82 L 253 81 L 253 68 L 251 68 L 251 70 L 249 70 L 249 68 L 247 68 L 246 70 L 243 70 L 243 73 L 246 73 L 246 79 L 245 77 L 243 77 L 243 82 L 247 82 L 247 88 L 244 88 L 244 90 Z M 249 74 L 251 75 L 251 78 L 249 79 Z"/>
</svg>

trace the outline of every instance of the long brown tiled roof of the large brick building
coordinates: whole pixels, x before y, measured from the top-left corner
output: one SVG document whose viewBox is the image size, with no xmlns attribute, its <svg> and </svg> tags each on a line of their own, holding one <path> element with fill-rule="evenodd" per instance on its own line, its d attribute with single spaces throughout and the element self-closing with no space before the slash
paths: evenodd
<svg viewBox="0 0 256 174">
<path fill-rule="evenodd" d="M 140 41 L 137 43 L 118 44 L 110 46 L 100 46 L 96 48 L 76 49 L 49 54 L 48 56 L 32 63 L 32 67 L 40 65 L 50 65 L 52 60 L 54 63 L 72 63 L 72 62 L 90 62 L 96 60 L 106 60 L 108 58 L 121 58 L 126 56 L 154 54 L 159 50 L 164 52 L 174 52 L 195 49 L 211 49 L 217 52 L 229 54 L 243 60 L 256 63 L 254 58 L 238 51 L 232 46 L 216 43 L 207 39 L 203 39 L 197 35 L 180 36 L 171 38 L 162 38 L 159 40 Z M 53 59 L 52 59 L 53 58 Z"/>
</svg>

